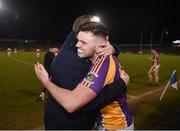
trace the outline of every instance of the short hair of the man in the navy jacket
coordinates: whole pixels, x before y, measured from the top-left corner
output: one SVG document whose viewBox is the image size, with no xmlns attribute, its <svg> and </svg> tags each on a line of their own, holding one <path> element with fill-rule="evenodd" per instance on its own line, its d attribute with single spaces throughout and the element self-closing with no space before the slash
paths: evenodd
<svg viewBox="0 0 180 131">
<path fill-rule="evenodd" d="M 81 15 L 76 18 L 73 24 L 74 33 L 77 34 L 79 26 L 83 23 L 90 22 L 91 18 L 93 18 L 93 15 Z"/>
</svg>

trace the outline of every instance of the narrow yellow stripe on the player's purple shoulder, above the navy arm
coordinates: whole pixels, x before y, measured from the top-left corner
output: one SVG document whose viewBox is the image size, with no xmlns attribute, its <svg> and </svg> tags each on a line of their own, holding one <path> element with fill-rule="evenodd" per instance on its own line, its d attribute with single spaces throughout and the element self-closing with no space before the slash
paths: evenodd
<svg viewBox="0 0 180 131">
<path fill-rule="evenodd" d="M 106 75 L 104 86 L 113 83 L 116 74 L 116 65 L 112 55 L 109 55 L 109 69 Z"/>
</svg>

